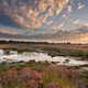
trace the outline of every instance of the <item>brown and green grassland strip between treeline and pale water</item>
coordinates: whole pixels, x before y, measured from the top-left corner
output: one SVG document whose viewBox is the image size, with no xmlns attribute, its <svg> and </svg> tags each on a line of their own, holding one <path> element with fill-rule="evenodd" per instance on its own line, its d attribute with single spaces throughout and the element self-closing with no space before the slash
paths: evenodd
<svg viewBox="0 0 88 88">
<path fill-rule="evenodd" d="M 15 50 L 22 52 L 43 52 L 52 57 L 54 56 L 73 56 L 88 61 L 88 45 L 55 45 L 55 44 L 0 44 L 2 50 Z"/>
</svg>

